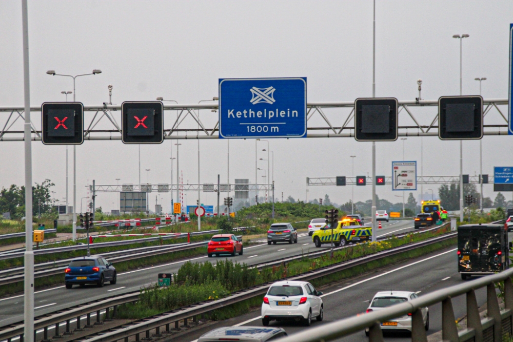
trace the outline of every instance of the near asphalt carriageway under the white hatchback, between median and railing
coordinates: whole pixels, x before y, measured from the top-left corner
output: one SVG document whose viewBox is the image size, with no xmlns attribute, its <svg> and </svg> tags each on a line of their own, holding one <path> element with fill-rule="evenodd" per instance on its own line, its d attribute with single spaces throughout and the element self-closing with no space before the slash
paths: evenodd
<svg viewBox="0 0 513 342">
<path fill-rule="evenodd" d="M 416 259 L 411 259 L 397 265 L 386 267 L 378 272 L 364 274 L 357 278 L 348 279 L 340 284 L 322 289 L 324 303 L 324 320 L 318 322 L 312 320 L 311 327 L 303 327 L 297 323 L 271 322 L 270 326 L 282 327 L 289 335 L 314 327 L 322 326 L 334 320 L 339 320 L 364 313 L 369 305 L 369 300 L 378 291 L 417 292 L 419 296 L 449 286 L 461 284 L 463 280 L 457 269 L 456 248 L 448 248 Z M 476 292 L 478 304 L 486 303 L 486 290 Z M 452 306 L 456 317 L 462 317 L 466 313 L 465 296 L 453 298 Z M 428 334 L 441 329 L 442 310 L 441 305 L 429 307 L 430 327 Z M 174 338 L 175 342 L 190 342 L 203 333 L 222 326 L 262 326 L 260 310 L 248 314 L 221 321 L 209 327 L 190 331 L 187 336 Z M 410 340 L 409 334 L 385 333 L 387 341 Z M 340 338 L 337 341 L 364 341 L 367 340 L 363 331 Z"/>
</svg>

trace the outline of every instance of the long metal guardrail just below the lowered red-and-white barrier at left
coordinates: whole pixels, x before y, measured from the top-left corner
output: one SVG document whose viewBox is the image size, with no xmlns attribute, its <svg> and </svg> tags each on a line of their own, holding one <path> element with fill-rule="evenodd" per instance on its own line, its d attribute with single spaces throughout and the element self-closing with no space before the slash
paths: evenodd
<svg viewBox="0 0 513 342">
<path fill-rule="evenodd" d="M 219 231 L 220 230 L 218 230 L 218 229 L 206 230 L 206 231 L 202 231 L 202 232 L 192 232 L 192 233 L 190 233 L 190 235 L 194 236 L 194 235 L 215 234 Z M 102 248 L 102 247 L 124 246 L 124 245 L 131 245 L 131 244 L 144 243 L 144 242 L 154 242 L 154 241 L 159 241 L 160 239 L 166 240 L 166 239 L 171 239 L 171 238 L 186 237 L 187 234 L 188 233 L 183 233 L 182 235 L 156 236 L 156 237 L 147 237 L 147 238 L 141 238 L 141 239 L 103 242 L 103 243 L 89 245 L 89 248 L 94 249 L 94 248 Z M 83 249 L 87 249 L 87 245 L 73 245 L 73 246 L 66 246 L 66 247 L 44 248 L 44 249 L 34 250 L 34 255 L 69 252 L 69 251 L 76 251 L 76 250 L 83 250 Z M 25 252 L 14 252 L 14 253 L 1 254 L 0 260 L 23 257 L 24 253 Z"/>
</svg>

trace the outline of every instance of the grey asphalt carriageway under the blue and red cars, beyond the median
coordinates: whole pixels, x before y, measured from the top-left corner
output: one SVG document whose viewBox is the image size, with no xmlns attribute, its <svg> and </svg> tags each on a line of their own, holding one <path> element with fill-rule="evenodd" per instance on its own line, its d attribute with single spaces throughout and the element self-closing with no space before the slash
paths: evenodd
<svg viewBox="0 0 513 342">
<path fill-rule="evenodd" d="M 379 230 L 378 236 L 386 234 L 400 234 L 414 230 L 412 220 L 382 222 L 383 228 Z M 329 246 L 323 246 L 322 249 L 328 249 Z M 311 237 L 307 233 L 299 234 L 297 244 L 277 244 L 267 245 L 258 244 L 244 248 L 243 255 L 226 258 L 255 265 L 280 259 L 288 256 L 298 255 L 318 251 L 312 243 Z M 225 258 L 224 256 L 222 257 Z M 42 315 L 57 310 L 66 309 L 75 305 L 87 303 L 88 301 L 104 298 L 107 296 L 122 294 L 139 290 L 142 287 L 156 283 L 157 273 L 176 273 L 178 269 L 187 261 L 194 262 L 211 261 L 215 263 L 221 257 L 208 258 L 206 255 L 172 261 L 167 264 L 141 268 L 117 275 L 117 284 L 106 284 L 103 288 L 95 286 L 73 287 L 66 289 L 63 286 L 52 287 L 35 292 L 35 315 Z M 114 265 L 115 266 L 115 265 Z M 63 274 L 64 277 L 64 274 Z M 23 319 L 24 298 L 23 294 L 14 295 L 0 299 L 0 327 L 12 324 Z"/>
</svg>

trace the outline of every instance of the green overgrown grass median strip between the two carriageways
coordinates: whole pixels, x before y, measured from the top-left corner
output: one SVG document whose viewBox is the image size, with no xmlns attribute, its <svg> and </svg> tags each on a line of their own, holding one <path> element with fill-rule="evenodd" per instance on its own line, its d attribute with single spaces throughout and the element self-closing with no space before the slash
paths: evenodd
<svg viewBox="0 0 513 342">
<path fill-rule="evenodd" d="M 450 228 L 447 227 L 422 234 L 411 234 L 403 238 L 391 238 L 377 243 L 358 244 L 334 252 L 333 258 L 331 258 L 329 252 L 327 252 L 318 258 L 293 260 L 287 265 L 273 266 L 260 271 L 255 268 L 250 268 L 245 264 L 241 265 L 238 263 L 232 263 L 230 260 L 219 260 L 215 267 L 209 261 L 203 264 L 191 263 L 188 261 L 179 269 L 178 273 L 174 275 L 174 280 L 170 287 L 159 288 L 157 286 L 153 286 L 142 289 L 140 300 L 135 303 L 120 306 L 117 310 L 116 317 L 140 319 L 162 312 L 171 311 L 180 308 L 181 306 L 198 303 L 202 300 L 214 299 L 212 298 L 211 293 L 204 293 L 203 296 L 200 295 L 199 297 L 194 296 L 188 298 L 188 291 L 190 291 L 190 288 L 194 288 L 196 286 L 208 287 L 212 291 L 216 291 L 218 295 L 228 295 L 231 292 L 264 284 L 268 281 L 299 275 L 360 256 L 404 246 L 410 243 L 420 242 L 422 240 L 447 233 L 449 230 Z M 412 251 L 370 261 L 361 266 L 314 279 L 312 280 L 312 284 L 315 286 L 322 286 L 324 284 L 332 283 L 333 281 L 359 275 L 398 261 L 430 253 L 437 249 L 451 246 L 454 243 L 455 239 L 450 239 Z M 219 295 L 219 297 L 221 296 L 222 295 Z M 176 297 L 184 298 L 185 300 L 181 301 L 179 305 L 176 300 L 172 299 Z M 198 298 L 199 300 L 197 300 Z M 252 299 L 248 299 L 247 303 L 248 305 L 251 305 L 251 303 L 256 302 Z M 239 306 L 239 304 L 236 306 Z M 232 306 L 224 308 L 221 311 L 216 310 L 215 312 L 216 313 L 212 313 L 212 315 L 216 315 L 212 316 L 215 319 L 218 319 L 218 317 L 224 317 L 225 313 L 227 314 L 228 312 L 240 314 L 239 309 L 234 309 Z"/>
</svg>

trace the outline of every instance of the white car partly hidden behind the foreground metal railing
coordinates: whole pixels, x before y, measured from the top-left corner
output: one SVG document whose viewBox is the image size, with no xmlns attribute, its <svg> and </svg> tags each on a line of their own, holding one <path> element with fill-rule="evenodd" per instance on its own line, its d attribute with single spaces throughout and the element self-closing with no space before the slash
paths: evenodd
<svg viewBox="0 0 513 342">
<path fill-rule="evenodd" d="M 415 292 L 407 291 L 383 291 L 374 295 L 370 301 L 367 313 L 371 311 L 378 311 L 394 304 L 404 303 L 405 301 L 413 300 L 419 296 Z M 426 331 L 429 330 L 429 311 L 427 308 L 422 308 L 422 319 L 424 320 L 424 327 Z M 381 323 L 382 330 L 397 331 L 408 330 L 411 331 L 411 314 L 404 315 L 395 319 L 390 319 Z M 365 329 L 365 334 L 369 335 L 369 329 Z"/>
</svg>

